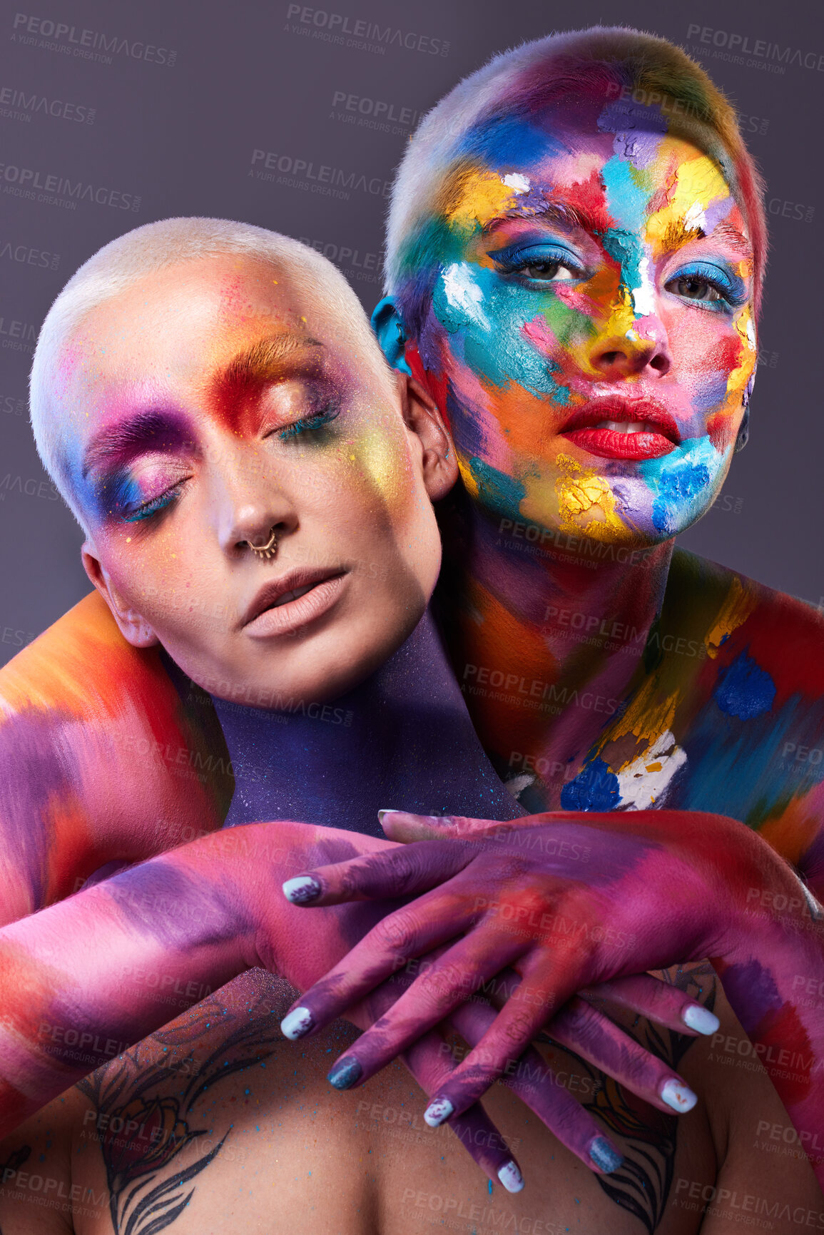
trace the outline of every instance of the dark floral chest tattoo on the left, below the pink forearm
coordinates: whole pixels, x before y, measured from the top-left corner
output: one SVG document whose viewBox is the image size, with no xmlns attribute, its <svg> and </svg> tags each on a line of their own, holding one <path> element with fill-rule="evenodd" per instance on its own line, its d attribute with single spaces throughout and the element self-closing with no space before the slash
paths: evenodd
<svg viewBox="0 0 824 1235">
<path fill-rule="evenodd" d="M 195 1063 L 194 1044 L 215 1025 L 229 1024 L 232 1028 L 221 1034 L 219 1047 Z M 196 1126 L 195 1104 L 220 1082 L 268 1058 L 274 1044 L 282 1042 L 271 1002 L 261 998 L 237 1016 L 212 997 L 185 1021 L 153 1034 L 79 1083 L 96 1109 L 95 1135 L 115 1235 L 157 1235 L 183 1213 L 194 1195 L 193 1181 L 224 1150 L 231 1132 L 230 1128 L 215 1142 L 211 1129 Z M 189 1044 L 191 1050 L 184 1053 Z M 158 1060 L 161 1052 L 169 1062 Z M 170 1077 L 179 1081 L 174 1092 Z M 193 1160 L 199 1149 L 205 1152 Z"/>
</svg>

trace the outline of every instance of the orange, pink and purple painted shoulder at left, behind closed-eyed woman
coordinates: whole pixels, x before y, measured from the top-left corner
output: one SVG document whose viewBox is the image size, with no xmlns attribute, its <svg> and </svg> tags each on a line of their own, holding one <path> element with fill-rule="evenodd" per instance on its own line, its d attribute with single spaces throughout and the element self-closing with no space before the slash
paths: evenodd
<svg viewBox="0 0 824 1235">
<path fill-rule="evenodd" d="M 0 669 L 0 925 L 219 829 L 235 787 L 209 697 L 96 592 Z"/>
</svg>

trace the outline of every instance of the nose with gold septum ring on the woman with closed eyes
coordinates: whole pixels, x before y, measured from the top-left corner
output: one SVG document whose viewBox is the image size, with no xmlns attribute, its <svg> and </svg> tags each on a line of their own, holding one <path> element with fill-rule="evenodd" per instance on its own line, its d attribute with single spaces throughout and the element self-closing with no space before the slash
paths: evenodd
<svg viewBox="0 0 824 1235">
<path fill-rule="evenodd" d="M 264 545 L 272 530 L 278 541 L 298 529 L 298 511 L 283 478 L 266 454 L 236 450 L 220 468 L 210 500 L 224 553 L 240 557 L 248 545 Z"/>
</svg>

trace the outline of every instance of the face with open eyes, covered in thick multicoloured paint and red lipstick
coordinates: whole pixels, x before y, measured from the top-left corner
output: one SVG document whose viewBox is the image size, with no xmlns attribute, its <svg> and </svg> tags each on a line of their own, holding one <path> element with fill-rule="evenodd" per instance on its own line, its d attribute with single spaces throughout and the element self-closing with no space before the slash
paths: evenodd
<svg viewBox="0 0 824 1235">
<path fill-rule="evenodd" d="M 726 474 L 756 361 L 752 256 L 718 164 L 636 112 L 557 107 L 467 136 L 415 342 L 482 505 L 655 543 Z"/>
</svg>

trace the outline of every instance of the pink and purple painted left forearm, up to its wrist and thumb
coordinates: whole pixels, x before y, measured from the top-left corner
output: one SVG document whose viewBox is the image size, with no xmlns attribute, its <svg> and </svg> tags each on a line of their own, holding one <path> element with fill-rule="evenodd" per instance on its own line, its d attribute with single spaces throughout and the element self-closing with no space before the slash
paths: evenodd
<svg viewBox="0 0 824 1235">
<path fill-rule="evenodd" d="M 280 883 L 295 863 L 384 847 L 331 829 L 254 824 L 0 930 L 0 1135 L 247 968 L 309 984 L 380 910 L 330 909 L 306 931 Z"/>
</svg>

